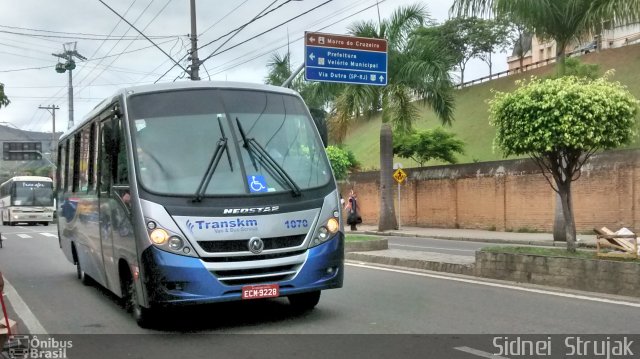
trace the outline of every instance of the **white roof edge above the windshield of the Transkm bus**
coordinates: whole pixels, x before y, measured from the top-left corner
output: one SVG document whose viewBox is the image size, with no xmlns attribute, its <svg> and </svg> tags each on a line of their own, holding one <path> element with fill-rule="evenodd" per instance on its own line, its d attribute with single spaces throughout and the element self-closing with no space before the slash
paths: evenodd
<svg viewBox="0 0 640 359">
<path fill-rule="evenodd" d="M 169 90 L 184 90 L 184 89 L 198 89 L 198 88 L 215 88 L 215 89 L 240 89 L 240 90 L 258 90 L 267 92 L 276 92 L 294 96 L 300 96 L 296 91 L 280 86 L 272 86 L 265 84 L 249 83 L 249 82 L 230 82 L 230 81 L 181 81 L 181 82 L 167 82 L 153 85 L 141 85 L 124 87 L 116 91 L 113 95 L 102 100 L 96 107 L 91 110 L 86 116 L 82 118 L 82 121 L 77 122 L 72 128 L 65 131 L 60 137 L 60 140 L 67 137 L 69 134 L 75 132 L 79 127 L 82 127 L 90 119 L 94 118 L 97 114 L 103 111 L 104 106 L 110 104 L 118 97 L 126 97 L 133 94 L 162 92 Z"/>
</svg>

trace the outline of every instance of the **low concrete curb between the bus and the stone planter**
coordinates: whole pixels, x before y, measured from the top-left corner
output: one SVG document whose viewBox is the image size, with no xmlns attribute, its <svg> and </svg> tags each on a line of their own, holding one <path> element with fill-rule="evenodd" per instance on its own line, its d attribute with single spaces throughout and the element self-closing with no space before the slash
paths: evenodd
<svg viewBox="0 0 640 359">
<path fill-rule="evenodd" d="M 428 261 L 423 259 L 398 258 L 362 252 L 346 253 L 345 258 L 353 261 L 384 264 L 404 268 L 424 269 L 435 272 L 464 274 L 470 276 L 473 276 L 475 268 L 474 264 L 447 263 Z"/>
</svg>

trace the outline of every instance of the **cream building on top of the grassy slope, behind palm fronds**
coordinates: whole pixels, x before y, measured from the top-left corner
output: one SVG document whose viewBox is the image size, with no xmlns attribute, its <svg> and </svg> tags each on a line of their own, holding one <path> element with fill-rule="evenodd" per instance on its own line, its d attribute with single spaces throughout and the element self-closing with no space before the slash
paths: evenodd
<svg viewBox="0 0 640 359">
<path fill-rule="evenodd" d="M 593 36 L 587 41 L 574 41 L 567 46 L 567 55 L 581 55 L 598 49 L 606 50 L 640 43 L 640 23 L 615 27 L 604 24 L 604 28 L 599 36 Z M 511 56 L 507 58 L 509 71 L 518 71 L 521 66 L 526 71 L 538 67 L 535 64 L 542 63 L 541 65 L 546 65 L 548 62 L 555 61 L 555 41 L 540 41 L 535 36 L 529 37 L 525 37 L 523 40 L 525 51 L 523 52 L 522 63 L 520 62 L 520 56 L 518 56 L 518 45 L 514 47 Z M 529 43 L 530 46 L 527 46 Z"/>
</svg>

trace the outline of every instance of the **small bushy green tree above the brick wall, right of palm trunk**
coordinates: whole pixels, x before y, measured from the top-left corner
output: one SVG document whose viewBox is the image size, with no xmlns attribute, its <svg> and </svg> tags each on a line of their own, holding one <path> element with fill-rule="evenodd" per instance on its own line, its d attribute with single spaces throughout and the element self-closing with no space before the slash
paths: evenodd
<svg viewBox="0 0 640 359">
<path fill-rule="evenodd" d="M 457 163 L 455 154 L 464 153 L 464 142 L 457 139 L 455 134 L 438 127 L 394 136 L 393 153 L 418 162 L 420 167 L 434 159 Z"/>
</svg>

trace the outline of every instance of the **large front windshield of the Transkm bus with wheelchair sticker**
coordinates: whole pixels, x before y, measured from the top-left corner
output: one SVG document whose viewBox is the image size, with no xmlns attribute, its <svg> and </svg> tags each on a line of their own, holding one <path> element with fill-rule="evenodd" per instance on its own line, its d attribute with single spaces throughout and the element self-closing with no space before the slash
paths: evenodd
<svg viewBox="0 0 640 359">
<path fill-rule="evenodd" d="M 128 111 L 139 180 L 149 191 L 194 195 L 205 183 L 207 196 L 258 194 L 291 191 L 288 179 L 301 190 L 331 180 L 315 125 L 295 96 L 190 89 L 133 95 Z M 246 146 L 247 139 L 264 155 Z M 207 167 L 223 140 L 226 146 L 207 181 Z"/>
</svg>

